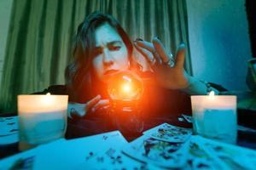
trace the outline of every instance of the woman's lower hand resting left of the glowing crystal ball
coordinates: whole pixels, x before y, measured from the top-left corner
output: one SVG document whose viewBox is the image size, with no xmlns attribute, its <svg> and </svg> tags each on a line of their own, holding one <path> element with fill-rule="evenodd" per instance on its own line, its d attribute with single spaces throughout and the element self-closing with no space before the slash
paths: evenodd
<svg viewBox="0 0 256 170">
<path fill-rule="evenodd" d="M 90 99 L 85 104 L 68 103 L 67 116 L 72 118 L 73 116 L 85 116 L 89 111 L 95 112 L 97 110 L 106 110 L 109 107 L 109 100 L 102 99 L 101 95 L 97 95 L 95 98 Z"/>
</svg>

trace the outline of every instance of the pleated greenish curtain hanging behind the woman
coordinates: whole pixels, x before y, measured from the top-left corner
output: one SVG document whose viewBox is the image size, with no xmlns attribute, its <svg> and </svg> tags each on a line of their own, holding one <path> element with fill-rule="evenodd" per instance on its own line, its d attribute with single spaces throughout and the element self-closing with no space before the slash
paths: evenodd
<svg viewBox="0 0 256 170">
<path fill-rule="evenodd" d="M 1 112 L 16 111 L 18 94 L 64 84 L 76 28 L 94 11 L 113 14 L 130 35 L 151 41 L 158 36 L 175 54 L 180 42 L 188 53 L 185 0 L 14 0 L 3 65 Z"/>
</svg>

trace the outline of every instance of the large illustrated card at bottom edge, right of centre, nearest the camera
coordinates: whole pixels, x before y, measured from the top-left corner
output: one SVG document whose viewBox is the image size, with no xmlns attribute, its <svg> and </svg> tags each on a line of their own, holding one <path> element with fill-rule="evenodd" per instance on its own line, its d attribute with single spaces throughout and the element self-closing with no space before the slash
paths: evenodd
<svg viewBox="0 0 256 170">
<path fill-rule="evenodd" d="M 123 151 L 139 161 L 152 163 L 158 167 L 183 167 L 187 161 L 189 140 L 186 143 L 171 143 L 143 135 L 128 145 Z"/>
</svg>

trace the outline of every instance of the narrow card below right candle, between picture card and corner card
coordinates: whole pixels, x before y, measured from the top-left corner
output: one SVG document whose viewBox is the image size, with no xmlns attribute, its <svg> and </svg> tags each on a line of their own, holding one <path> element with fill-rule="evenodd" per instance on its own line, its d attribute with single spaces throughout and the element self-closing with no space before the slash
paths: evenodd
<svg viewBox="0 0 256 170">
<path fill-rule="evenodd" d="M 192 136 L 189 143 L 189 169 L 226 169 L 223 161 L 210 154 L 203 144 Z"/>
</svg>

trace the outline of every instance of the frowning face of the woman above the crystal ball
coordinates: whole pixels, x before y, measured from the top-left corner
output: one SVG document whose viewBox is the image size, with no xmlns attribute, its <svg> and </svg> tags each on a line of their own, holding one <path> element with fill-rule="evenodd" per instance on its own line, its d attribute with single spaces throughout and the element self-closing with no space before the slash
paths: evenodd
<svg viewBox="0 0 256 170">
<path fill-rule="evenodd" d="M 96 51 L 92 59 L 95 76 L 101 82 L 107 82 L 115 71 L 127 70 L 128 52 L 119 33 L 107 23 L 96 28 Z"/>
</svg>

